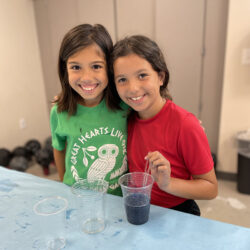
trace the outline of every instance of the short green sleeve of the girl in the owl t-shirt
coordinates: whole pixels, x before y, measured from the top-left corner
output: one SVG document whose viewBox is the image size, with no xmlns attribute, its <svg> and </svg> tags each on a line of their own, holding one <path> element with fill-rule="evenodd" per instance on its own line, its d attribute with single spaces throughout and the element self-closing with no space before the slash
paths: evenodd
<svg viewBox="0 0 250 250">
<path fill-rule="evenodd" d="M 56 105 L 52 107 L 50 112 L 50 129 L 53 148 L 59 151 L 63 150 L 65 148 L 66 136 L 60 133 L 59 115 Z"/>
</svg>

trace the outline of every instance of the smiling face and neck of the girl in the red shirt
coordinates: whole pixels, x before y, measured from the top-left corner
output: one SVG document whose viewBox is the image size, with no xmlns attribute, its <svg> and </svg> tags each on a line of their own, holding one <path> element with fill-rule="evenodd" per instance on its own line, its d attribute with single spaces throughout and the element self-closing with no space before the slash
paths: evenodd
<svg viewBox="0 0 250 250">
<path fill-rule="evenodd" d="M 119 96 L 141 119 L 155 116 L 164 106 L 166 101 L 160 95 L 164 73 L 156 72 L 144 58 L 136 54 L 118 57 L 114 77 Z"/>
</svg>

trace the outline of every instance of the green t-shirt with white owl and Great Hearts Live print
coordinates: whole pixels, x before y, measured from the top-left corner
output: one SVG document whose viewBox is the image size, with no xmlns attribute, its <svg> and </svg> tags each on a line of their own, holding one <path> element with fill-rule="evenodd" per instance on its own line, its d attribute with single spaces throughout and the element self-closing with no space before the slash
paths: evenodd
<svg viewBox="0 0 250 250">
<path fill-rule="evenodd" d="M 77 105 L 76 114 L 50 113 L 52 145 L 66 147 L 63 182 L 100 178 L 109 182 L 108 193 L 121 195 L 118 179 L 127 172 L 127 110 L 110 111 L 103 100 L 95 107 Z"/>
</svg>

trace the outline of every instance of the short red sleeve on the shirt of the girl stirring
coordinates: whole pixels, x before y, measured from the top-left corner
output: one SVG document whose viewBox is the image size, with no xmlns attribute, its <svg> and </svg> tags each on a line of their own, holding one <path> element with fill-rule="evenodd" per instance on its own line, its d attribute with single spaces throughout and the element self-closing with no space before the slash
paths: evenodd
<svg viewBox="0 0 250 250">
<path fill-rule="evenodd" d="M 198 119 L 191 113 L 183 120 L 178 148 L 192 175 L 205 174 L 213 168 L 207 136 Z"/>
</svg>

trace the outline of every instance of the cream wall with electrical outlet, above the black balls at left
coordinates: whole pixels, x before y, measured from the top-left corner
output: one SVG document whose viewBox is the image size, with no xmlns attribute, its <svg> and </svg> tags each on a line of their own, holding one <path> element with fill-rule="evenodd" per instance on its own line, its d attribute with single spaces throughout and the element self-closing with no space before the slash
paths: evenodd
<svg viewBox="0 0 250 250">
<path fill-rule="evenodd" d="M 50 134 L 33 1 L 1 1 L 0 30 L 0 147 L 12 150 Z"/>
</svg>

